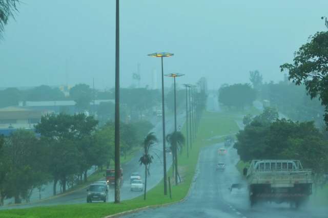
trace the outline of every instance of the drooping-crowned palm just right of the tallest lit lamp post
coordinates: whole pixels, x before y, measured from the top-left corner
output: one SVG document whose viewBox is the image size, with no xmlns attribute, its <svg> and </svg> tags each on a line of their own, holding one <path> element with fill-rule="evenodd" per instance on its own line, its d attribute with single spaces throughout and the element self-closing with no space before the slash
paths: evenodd
<svg viewBox="0 0 328 218">
<path fill-rule="evenodd" d="M 171 144 L 172 156 L 175 167 L 175 185 L 178 184 L 178 150 L 182 151 L 182 146 L 185 144 L 185 136 L 181 132 L 173 132 L 166 136 L 166 140 Z"/>
</svg>

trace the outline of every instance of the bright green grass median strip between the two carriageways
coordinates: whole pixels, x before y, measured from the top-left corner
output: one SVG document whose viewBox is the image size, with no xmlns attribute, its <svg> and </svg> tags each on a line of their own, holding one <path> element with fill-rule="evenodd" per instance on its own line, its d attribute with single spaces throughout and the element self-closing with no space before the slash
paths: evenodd
<svg viewBox="0 0 328 218">
<path fill-rule="evenodd" d="M 3 210 L 0 211 L 0 217 L 104 217 L 145 206 L 178 202 L 185 198 L 188 193 L 201 147 L 208 145 L 207 139 L 237 132 L 238 126 L 234 120 L 233 116 L 227 116 L 225 113 L 203 113 L 198 126 L 197 139 L 193 141 L 192 149 L 189 150 L 189 158 L 187 158 L 186 147 L 184 147 L 181 154 L 179 154 L 178 165 L 181 174 L 180 176 L 183 179 L 177 186 L 172 184 L 172 200 L 170 199 L 169 194 L 163 195 L 163 181 L 161 181 L 158 185 L 147 192 L 146 201 L 144 201 L 143 196 L 140 196 L 132 200 L 122 201 L 120 204 L 93 203 Z M 183 126 L 182 133 L 185 132 L 186 127 Z M 168 176 L 171 175 L 172 171 L 170 170 Z"/>
</svg>

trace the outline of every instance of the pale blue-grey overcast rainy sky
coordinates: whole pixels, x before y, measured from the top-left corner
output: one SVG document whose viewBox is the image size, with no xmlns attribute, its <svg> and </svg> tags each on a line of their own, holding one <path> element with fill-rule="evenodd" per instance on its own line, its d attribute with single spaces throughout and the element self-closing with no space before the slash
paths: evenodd
<svg viewBox="0 0 328 218">
<path fill-rule="evenodd" d="M 327 0 L 121 0 L 120 84 L 139 65 L 140 87 L 208 79 L 210 89 L 245 83 L 259 70 L 264 81 L 282 80 L 279 66 L 317 31 L 326 31 Z M 114 0 L 22 0 L 0 41 L 0 87 L 115 84 Z M 172 78 L 165 78 L 166 86 Z"/>
</svg>

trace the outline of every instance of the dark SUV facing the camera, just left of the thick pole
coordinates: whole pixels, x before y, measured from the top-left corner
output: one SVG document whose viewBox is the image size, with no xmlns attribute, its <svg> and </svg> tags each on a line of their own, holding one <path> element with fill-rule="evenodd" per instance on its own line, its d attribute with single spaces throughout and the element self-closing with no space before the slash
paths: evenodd
<svg viewBox="0 0 328 218">
<path fill-rule="evenodd" d="M 108 190 L 106 190 L 107 185 L 104 183 L 93 183 L 87 189 L 87 203 L 92 203 L 92 201 L 103 201 L 108 200 Z"/>
</svg>

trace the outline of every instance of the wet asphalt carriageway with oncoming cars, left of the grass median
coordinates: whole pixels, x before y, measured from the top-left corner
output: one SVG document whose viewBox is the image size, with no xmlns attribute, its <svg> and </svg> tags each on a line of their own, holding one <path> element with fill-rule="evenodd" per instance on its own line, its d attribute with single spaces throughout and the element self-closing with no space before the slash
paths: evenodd
<svg viewBox="0 0 328 218">
<path fill-rule="evenodd" d="M 174 129 L 174 119 L 173 116 L 166 117 L 166 134 L 173 132 Z M 185 122 L 185 114 L 178 114 L 177 116 L 177 125 L 182 126 Z M 154 132 L 158 138 L 158 142 L 156 145 L 153 146 L 153 156 L 154 160 L 150 167 L 150 176 L 147 180 L 147 189 L 151 189 L 155 185 L 157 185 L 163 176 L 163 164 L 162 164 L 162 157 L 163 157 L 163 149 L 162 149 L 162 122 L 161 117 L 158 118 L 155 127 L 151 130 Z M 169 146 L 167 144 L 167 146 Z M 128 163 L 122 165 L 123 168 L 123 187 L 121 188 L 121 200 L 128 200 L 133 199 L 143 192 L 141 191 L 131 191 L 130 188 L 130 175 L 132 172 L 139 172 L 141 175 L 141 179 L 144 178 L 145 175 L 145 168 L 144 166 L 140 166 L 139 158 L 141 157 L 141 151 L 139 154 L 136 154 L 134 158 L 131 159 Z M 167 169 L 170 168 L 172 164 L 172 155 L 167 153 Z M 105 178 L 102 179 L 105 181 Z M 86 203 L 86 194 L 87 188 L 75 190 L 73 192 L 69 192 L 66 195 L 59 195 L 58 197 L 53 197 L 50 199 L 45 199 L 42 201 L 32 202 L 30 204 L 21 204 L 21 205 L 5 205 L 0 207 L 0 210 L 3 209 L 18 209 L 18 208 L 29 208 L 29 207 L 36 207 L 36 206 L 50 206 L 50 205 L 62 205 L 62 204 L 80 204 Z M 109 202 L 114 201 L 114 191 L 110 189 L 109 192 Z"/>
</svg>

